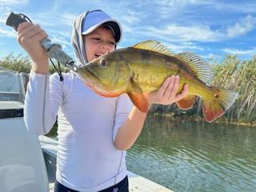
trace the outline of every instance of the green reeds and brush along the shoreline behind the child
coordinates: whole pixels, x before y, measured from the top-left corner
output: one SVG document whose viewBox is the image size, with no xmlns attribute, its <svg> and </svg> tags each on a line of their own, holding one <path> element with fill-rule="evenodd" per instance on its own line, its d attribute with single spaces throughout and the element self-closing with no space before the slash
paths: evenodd
<svg viewBox="0 0 256 192">
<path fill-rule="evenodd" d="M 0 60 L 0 66 L 19 72 L 30 73 L 31 61 L 28 57 L 10 54 Z M 57 66 L 57 65 L 55 65 Z M 234 105 L 219 121 L 256 123 L 256 57 L 250 60 L 239 60 L 236 56 L 227 55 L 219 63 L 213 62 L 214 79 L 212 86 L 219 86 L 230 90 L 237 90 L 239 95 Z M 62 67 L 62 71 L 67 71 Z M 50 65 L 50 73 L 55 69 Z M 165 114 L 182 118 L 202 120 L 201 99 L 195 102 L 191 110 L 182 111 L 174 104 L 171 106 L 154 105 L 151 114 Z"/>
</svg>

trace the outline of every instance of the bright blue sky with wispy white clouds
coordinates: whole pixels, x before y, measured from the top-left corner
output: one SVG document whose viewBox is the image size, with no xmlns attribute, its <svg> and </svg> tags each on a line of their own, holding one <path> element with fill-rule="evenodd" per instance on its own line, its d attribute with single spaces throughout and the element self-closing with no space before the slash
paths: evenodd
<svg viewBox="0 0 256 192">
<path fill-rule="evenodd" d="M 122 24 L 119 48 L 146 39 L 158 40 L 175 53 L 193 51 L 202 58 L 222 59 L 256 55 L 256 1 L 221 0 L 0 0 L 0 58 L 14 52 L 26 55 L 15 31 L 5 25 L 11 11 L 26 14 L 60 43 L 72 57 L 74 18 L 86 10 L 101 9 Z"/>
</svg>

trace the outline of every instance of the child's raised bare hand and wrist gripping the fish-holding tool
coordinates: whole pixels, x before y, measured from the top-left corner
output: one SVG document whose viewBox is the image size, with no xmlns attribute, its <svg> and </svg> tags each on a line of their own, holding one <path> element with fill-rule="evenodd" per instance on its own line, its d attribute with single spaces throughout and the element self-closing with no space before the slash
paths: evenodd
<svg viewBox="0 0 256 192">
<path fill-rule="evenodd" d="M 38 25 L 30 22 L 22 22 L 18 26 L 17 39 L 19 44 L 32 59 L 32 70 L 38 74 L 48 74 L 48 56 L 42 49 L 40 42 L 48 35 Z"/>
</svg>

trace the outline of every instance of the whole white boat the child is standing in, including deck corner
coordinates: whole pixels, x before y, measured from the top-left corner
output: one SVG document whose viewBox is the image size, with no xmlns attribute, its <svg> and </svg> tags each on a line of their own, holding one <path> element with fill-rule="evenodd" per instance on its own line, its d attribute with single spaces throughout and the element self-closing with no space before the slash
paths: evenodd
<svg viewBox="0 0 256 192">
<path fill-rule="evenodd" d="M 0 66 L 0 191 L 54 191 L 58 141 L 31 134 L 23 120 L 28 76 Z M 130 191 L 170 192 L 128 172 Z"/>
</svg>

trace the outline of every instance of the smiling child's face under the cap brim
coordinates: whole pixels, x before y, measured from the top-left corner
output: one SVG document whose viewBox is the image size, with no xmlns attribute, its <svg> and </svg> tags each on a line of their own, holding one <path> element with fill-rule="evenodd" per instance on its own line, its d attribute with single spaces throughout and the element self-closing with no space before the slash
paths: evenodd
<svg viewBox="0 0 256 192">
<path fill-rule="evenodd" d="M 82 36 L 88 62 L 115 49 L 114 36 L 110 30 L 98 26 L 90 34 Z"/>
</svg>

